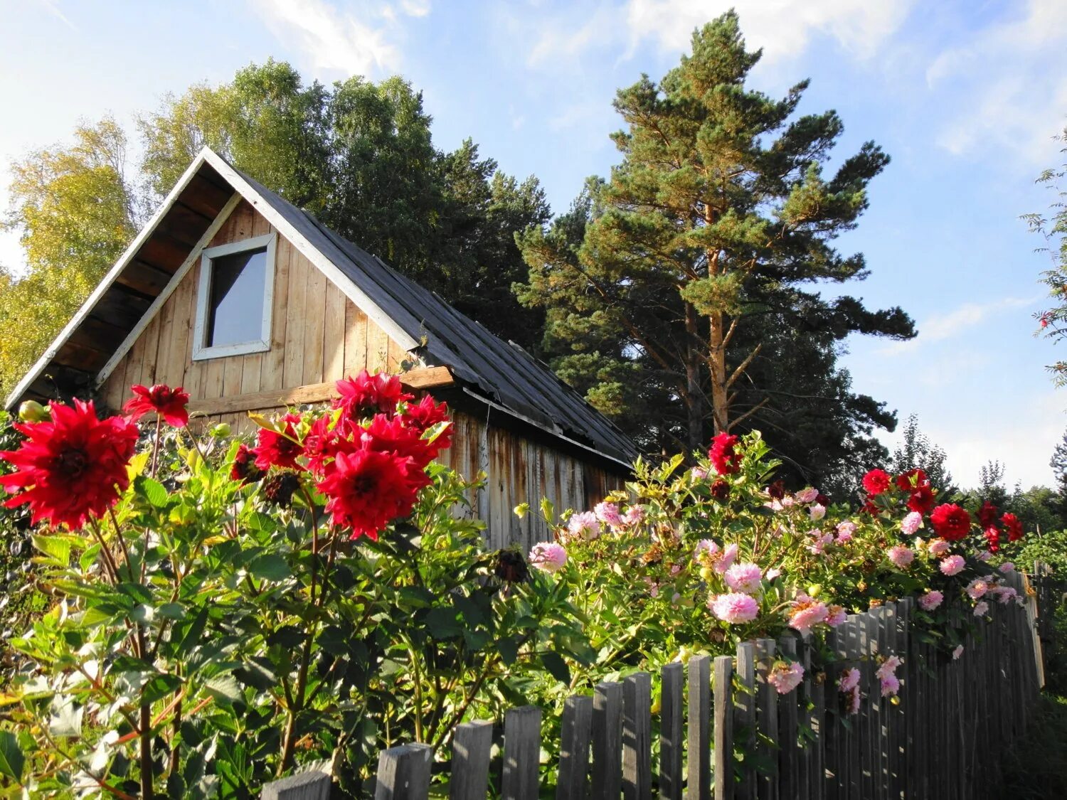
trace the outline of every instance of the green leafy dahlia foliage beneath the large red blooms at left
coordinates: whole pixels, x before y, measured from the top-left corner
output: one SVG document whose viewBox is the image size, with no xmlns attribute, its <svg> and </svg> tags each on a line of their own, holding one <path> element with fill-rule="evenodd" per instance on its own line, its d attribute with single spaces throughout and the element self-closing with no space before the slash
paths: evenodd
<svg viewBox="0 0 1067 800">
<path fill-rule="evenodd" d="M 33 538 L 58 604 L 11 641 L 11 791 L 251 797 L 327 761 L 361 795 L 381 749 L 444 751 L 530 670 L 548 686 L 589 657 L 570 588 L 501 573 L 455 473 L 431 465 L 409 518 L 349 541 L 312 481 L 281 508 L 230 478 L 237 443 L 164 439 L 113 518 Z"/>
</svg>

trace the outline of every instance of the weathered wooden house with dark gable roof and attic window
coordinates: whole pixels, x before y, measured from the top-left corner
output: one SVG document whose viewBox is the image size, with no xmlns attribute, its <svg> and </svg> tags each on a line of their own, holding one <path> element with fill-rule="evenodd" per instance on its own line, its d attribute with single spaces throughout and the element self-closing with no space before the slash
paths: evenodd
<svg viewBox="0 0 1067 800">
<path fill-rule="evenodd" d="M 501 341 L 314 217 L 205 149 L 6 401 L 184 386 L 190 410 L 248 430 L 246 413 L 334 396 L 361 369 L 453 410 L 442 460 L 483 471 L 490 543 L 547 533 L 514 506 L 587 509 L 621 485 L 632 442 L 542 363 Z"/>
</svg>

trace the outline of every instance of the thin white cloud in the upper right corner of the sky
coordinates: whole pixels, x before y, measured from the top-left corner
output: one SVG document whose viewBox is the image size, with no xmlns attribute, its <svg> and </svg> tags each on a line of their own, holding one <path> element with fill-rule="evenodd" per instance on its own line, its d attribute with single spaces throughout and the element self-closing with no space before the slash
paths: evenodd
<svg viewBox="0 0 1067 800">
<path fill-rule="evenodd" d="M 1067 2 L 1030 0 L 1024 13 L 945 50 L 926 69 L 950 121 L 937 144 L 956 156 L 996 150 L 1048 165 L 1067 125 Z"/>
</svg>

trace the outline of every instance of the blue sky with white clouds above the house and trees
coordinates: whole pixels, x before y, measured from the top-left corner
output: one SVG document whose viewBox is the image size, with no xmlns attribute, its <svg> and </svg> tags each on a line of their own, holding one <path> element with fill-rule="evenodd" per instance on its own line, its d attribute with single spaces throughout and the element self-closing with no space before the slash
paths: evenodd
<svg viewBox="0 0 1067 800">
<path fill-rule="evenodd" d="M 0 166 L 79 119 L 110 112 L 132 131 L 165 93 L 274 57 L 327 82 L 405 76 L 439 147 L 473 138 L 506 172 L 537 175 L 562 211 L 617 161 L 616 89 L 662 76 L 731 4 L 764 48 L 754 85 L 780 94 L 810 78 L 801 110 L 838 110 L 839 158 L 870 139 L 893 158 L 841 246 L 871 268 L 848 291 L 903 306 L 921 334 L 849 339 L 855 388 L 917 413 L 964 485 L 991 459 L 1009 484 L 1051 482 L 1067 390 L 1044 367 L 1063 354 L 1033 336 L 1048 261 L 1019 215 L 1048 207 L 1034 178 L 1063 162 L 1063 0 L 0 0 Z M 0 261 L 20 258 L 0 237 Z"/>
</svg>

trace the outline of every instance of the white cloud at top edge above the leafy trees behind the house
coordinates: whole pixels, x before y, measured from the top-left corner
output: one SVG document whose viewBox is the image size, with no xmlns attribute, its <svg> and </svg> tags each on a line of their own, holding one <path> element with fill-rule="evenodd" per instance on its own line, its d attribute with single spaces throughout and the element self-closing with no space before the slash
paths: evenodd
<svg viewBox="0 0 1067 800">
<path fill-rule="evenodd" d="M 252 0 L 283 43 L 302 50 L 313 69 L 373 75 L 400 64 L 397 9 L 359 4 L 341 11 L 325 0 Z M 400 0 L 403 16 L 424 17 L 430 0 Z"/>
</svg>

